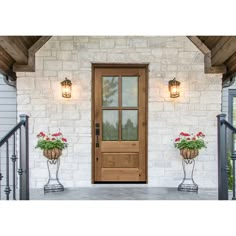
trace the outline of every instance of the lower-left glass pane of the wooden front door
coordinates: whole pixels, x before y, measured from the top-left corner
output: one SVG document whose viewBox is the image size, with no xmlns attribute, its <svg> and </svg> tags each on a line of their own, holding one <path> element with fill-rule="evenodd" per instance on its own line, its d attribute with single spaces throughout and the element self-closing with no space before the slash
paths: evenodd
<svg viewBox="0 0 236 236">
<path fill-rule="evenodd" d="M 118 111 L 103 110 L 102 116 L 102 140 L 118 140 Z"/>
</svg>

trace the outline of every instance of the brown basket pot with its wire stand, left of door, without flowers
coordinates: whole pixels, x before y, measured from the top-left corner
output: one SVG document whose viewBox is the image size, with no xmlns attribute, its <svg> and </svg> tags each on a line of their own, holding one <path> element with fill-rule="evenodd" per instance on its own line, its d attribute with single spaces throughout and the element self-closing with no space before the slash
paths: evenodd
<svg viewBox="0 0 236 236">
<path fill-rule="evenodd" d="M 44 193 L 64 191 L 64 186 L 60 183 L 58 172 L 60 167 L 60 156 L 62 150 L 58 148 L 43 150 L 43 155 L 48 158 L 48 182 L 44 185 Z"/>
</svg>

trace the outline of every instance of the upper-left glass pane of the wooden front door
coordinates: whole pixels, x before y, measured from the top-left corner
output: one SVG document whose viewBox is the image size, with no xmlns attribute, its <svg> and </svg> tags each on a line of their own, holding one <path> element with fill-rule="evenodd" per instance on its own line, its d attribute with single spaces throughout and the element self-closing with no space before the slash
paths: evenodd
<svg viewBox="0 0 236 236">
<path fill-rule="evenodd" d="M 118 107 L 118 77 L 102 77 L 102 106 Z"/>
</svg>

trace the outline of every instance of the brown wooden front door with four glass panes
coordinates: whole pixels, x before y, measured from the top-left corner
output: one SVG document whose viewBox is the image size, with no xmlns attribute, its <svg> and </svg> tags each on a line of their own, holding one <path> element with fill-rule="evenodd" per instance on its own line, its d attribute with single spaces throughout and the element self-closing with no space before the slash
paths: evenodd
<svg viewBox="0 0 236 236">
<path fill-rule="evenodd" d="M 146 67 L 94 67 L 94 182 L 147 181 Z"/>
</svg>

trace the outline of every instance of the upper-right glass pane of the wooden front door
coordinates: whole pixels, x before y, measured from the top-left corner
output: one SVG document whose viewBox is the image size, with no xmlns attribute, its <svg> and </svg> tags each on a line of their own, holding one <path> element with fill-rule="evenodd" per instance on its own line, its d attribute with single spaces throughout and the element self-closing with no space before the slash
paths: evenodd
<svg viewBox="0 0 236 236">
<path fill-rule="evenodd" d="M 122 106 L 138 106 L 138 77 L 122 77 Z"/>
</svg>

